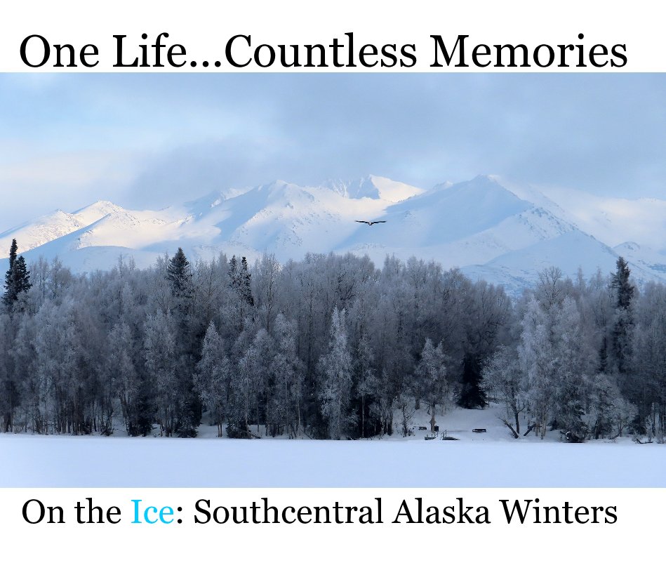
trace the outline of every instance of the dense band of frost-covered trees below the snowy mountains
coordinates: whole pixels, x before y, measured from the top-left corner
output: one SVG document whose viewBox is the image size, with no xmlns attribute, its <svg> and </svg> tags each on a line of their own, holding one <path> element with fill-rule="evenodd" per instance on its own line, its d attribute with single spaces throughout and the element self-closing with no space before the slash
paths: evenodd
<svg viewBox="0 0 666 563">
<path fill-rule="evenodd" d="M 4 432 L 340 439 L 411 432 L 416 409 L 500 402 L 507 431 L 662 437 L 666 289 L 557 268 L 512 299 L 418 258 L 248 265 L 182 249 L 147 269 L 25 265 L 0 314 Z"/>
</svg>

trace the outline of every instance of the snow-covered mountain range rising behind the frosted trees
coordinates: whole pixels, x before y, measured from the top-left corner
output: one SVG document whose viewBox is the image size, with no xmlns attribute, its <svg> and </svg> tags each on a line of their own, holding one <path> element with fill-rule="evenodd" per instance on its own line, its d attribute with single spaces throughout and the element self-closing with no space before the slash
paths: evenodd
<svg viewBox="0 0 666 563">
<path fill-rule="evenodd" d="M 357 223 L 375 219 L 386 223 Z M 381 265 L 387 254 L 418 256 L 509 289 L 551 265 L 570 276 L 579 267 L 610 272 L 622 255 L 635 279 L 666 281 L 666 201 L 507 188 L 490 176 L 431 190 L 372 175 L 319 186 L 278 180 L 159 211 L 98 201 L 1 233 L 4 256 L 13 238 L 28 262 L 58 256 L 79 272 L 112 267 L 120 255 L 146 266 L 182 246 L 194 260 L 352 251 Z"/>
</svg>

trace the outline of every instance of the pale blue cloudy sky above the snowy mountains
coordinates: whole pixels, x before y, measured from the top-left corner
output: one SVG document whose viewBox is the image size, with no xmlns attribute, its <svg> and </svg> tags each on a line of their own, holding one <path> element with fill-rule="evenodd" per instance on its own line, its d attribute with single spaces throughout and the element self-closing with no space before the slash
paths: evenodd
<svg viewBox="0 0 666 563">
<path fill-rule="evenodd" d="M 663 74 L 0 74 L 0 232 L 372 173 L 666 197 Z"/>
</svg>

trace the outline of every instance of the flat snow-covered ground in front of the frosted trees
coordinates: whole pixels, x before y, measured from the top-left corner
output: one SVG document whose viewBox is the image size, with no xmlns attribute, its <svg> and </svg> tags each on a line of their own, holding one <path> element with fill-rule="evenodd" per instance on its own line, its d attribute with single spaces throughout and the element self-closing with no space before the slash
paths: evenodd
<svg viewBox="0 0 666 563">
<path fill-rule="evenodd" d="M 437 416 L 456 441 L 425 440 L 425 430 L 408 439 L 232 440 L 208 426 L 196 439 L 0 434 L 0 486 L 666 486 L 666 445 L 567 444 L 557 432 L 514 440 L 496 413 Z M 414 424 L 427 426 L 417 414 Z"/>
</svg>

